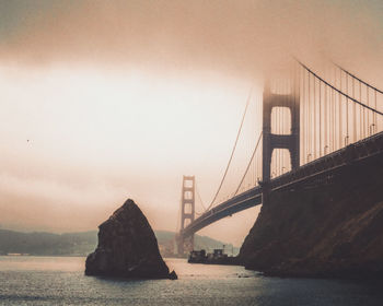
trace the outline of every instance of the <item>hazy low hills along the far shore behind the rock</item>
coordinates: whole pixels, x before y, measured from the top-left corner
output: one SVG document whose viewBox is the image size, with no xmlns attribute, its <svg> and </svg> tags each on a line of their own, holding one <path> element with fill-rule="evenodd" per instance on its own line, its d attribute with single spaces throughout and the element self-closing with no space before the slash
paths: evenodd
<svg viewBox="0 0 383 306">
<path fill-rule="evenodd" d="M 154 231 L 159 242 L 161 254 L 164 257 L 173 256 L 174 232 Z M 80 232 L 53 234 L 44 232 L 22 233 L 15 231 L 0 229 L 0 255 L 7 254 L 28 254 L 36 256 L 86 256 L 92 252 L 97 245 L 97 232 Z M 195 236 L 195 248 L 212 250 L 214 248 L 225 249 L 229 255 L 232 245 L 214 240 L 207 236 Z M 239 252 L 233 248 L 234 254 Z"/>
</svg>

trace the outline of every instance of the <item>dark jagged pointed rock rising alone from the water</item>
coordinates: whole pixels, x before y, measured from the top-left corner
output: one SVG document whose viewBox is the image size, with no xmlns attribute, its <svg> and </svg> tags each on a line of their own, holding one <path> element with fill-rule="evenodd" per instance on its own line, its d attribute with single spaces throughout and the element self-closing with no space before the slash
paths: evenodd
<svg viewBox="0 0 383 306">
<path fill-rule="evenodd" d="M 128 199 L 98 226 L 98 245 L 85 262 L 86 275 L 176 279 L 163 261 L 147 217 Z"/>
</svg>

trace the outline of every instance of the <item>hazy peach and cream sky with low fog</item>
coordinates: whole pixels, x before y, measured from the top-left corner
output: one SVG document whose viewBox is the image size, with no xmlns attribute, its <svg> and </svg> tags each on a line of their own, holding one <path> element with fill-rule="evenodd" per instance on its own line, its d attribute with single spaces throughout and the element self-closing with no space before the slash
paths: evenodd
<svg viewBox="0 0 383 306">
<path fill-rule="evenodd" d="M 383 2 L 0 0 L 1 226 L 92 229 L 132 198 L 174 231 L 182 175 L 210 200 L 291 54 L 383 87 Z M 240 244 L 257 211 L 201 233 Z"/>
</svg>

